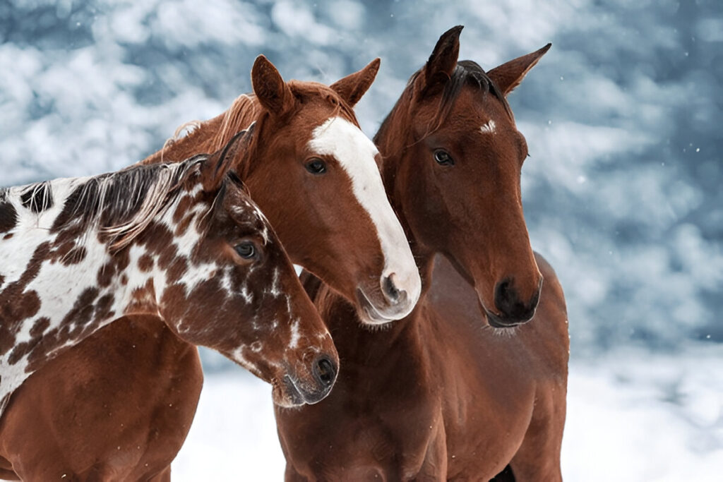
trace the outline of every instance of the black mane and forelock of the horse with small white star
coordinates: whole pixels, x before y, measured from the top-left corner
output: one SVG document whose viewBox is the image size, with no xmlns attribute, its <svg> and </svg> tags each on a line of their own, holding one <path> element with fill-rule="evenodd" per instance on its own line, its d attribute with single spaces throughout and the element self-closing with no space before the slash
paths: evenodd
<svg viewBox="0 0 723 482">
<path fill-rule="evenodd" d="M 384 121 L 382 121 L 379 131 L 377 131 L 377 134 L 374 137 L 375 144 L 378 145 L 381 137 L 388 131 L 389 124 L 394 116 L 399 115 L 402 108 L 408 108 L 411 106 L 411 102 L 414 100 L 415 94 L 414 86 L 417 79 L 419 79 L 419 76 L 422 75 L 423 70 L 424 67 L 414 72 L 414 74 L 409 77 L 401 97 L 397 100 L 397 103 L 392 108 L 388 116 L 384 119 Z M 507 99 L 505 99 L 505 95 L 502 94 L 500 87 L 497 87 L 495 82 L 489 78 L 487 72 L 484 72 L 484 69 L 482 69 L 482 67 L 474 61 L 461 60 L 457 62 L 450 79 L 445 83 L 445 87 L 442 90 L 440 105 L 437 108 L 437 113 L 434 119 L 432 119 L 432 122 L 429 125 L 427 135 L 432 134 L 432 132 L 439 129 L 442 123 L 448 118 L 455 101 L 462 92 L 462 88 L 466 85 L 476 87 L 482 95 L 487 95 L 488 93 L 491 94 L 497 100 L 500 100 L 502 106 L 505 108 L 505 112 L 508 113 L 508 116 L 510 116 L 510 118 L 513 116 L 512 109 L 510 108 L 510 104 Z M 403 124 L 405 123 L 399 123 L 399 125 Z"/>
</svg>

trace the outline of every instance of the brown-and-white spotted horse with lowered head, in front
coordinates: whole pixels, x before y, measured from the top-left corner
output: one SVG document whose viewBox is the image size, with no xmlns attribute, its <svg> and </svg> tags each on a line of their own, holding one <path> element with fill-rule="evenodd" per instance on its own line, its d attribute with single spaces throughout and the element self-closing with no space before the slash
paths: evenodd
<svg viewBox="0 0 723 482">
<path fill-rule="evenodd" d="M 182 163 L 4 190 L 0 415 L 30 374 L 132 315 L 160 317 L 185 343 L 223 353 L 272 384 L 280 406 L 328 394 L 338 367 L 329 332 L 268 220 L 227 176 L 239 137 Z M 19 422 L 9 430 L 24 429 L 12 427 Z M 16 463 L 28 443 L 42 441 L 3 440 L 21 478 L 90 475 L 42 470 L 27 453 Z M 118 451 L 142 455 L 140 446 Z"/>
</svg>

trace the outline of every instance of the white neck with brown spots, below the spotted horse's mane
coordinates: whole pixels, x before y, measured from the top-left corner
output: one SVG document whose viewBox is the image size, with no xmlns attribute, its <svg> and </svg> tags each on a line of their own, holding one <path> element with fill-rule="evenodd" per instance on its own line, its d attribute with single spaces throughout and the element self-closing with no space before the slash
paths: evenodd
<svg viewBox="0 0 723 482">
<path fill-rule="evenodd" d="M 72 219 L 56 226 L 69 194 L 89 180 L 43 183 L 54 199 L 40 212 L 23 204 L 25 187 L 4 195 L 17 223 L 0 237 L 0 306 L 11 307 L 0 311 L 0 416 L 27 376 L 67 348 L 121 316 L 159 313 L 157 280 L 166 273 L 151 267 L 140 240 L 161 234 L 154 225 L 170 225 L 174 205 L 155 215 L 152 232 L 114 251 L 96 223 L 82 231 Z"/>
</svg>

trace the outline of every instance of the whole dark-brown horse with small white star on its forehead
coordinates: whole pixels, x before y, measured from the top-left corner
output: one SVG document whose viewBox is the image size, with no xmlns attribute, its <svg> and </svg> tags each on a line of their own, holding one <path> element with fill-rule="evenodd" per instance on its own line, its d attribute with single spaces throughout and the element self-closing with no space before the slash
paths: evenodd
<svg viewBox="0 0 723 482">
<path fill-rule="evenodd" d="M 305 276 L 342 366 L 322 403 L 275 408 L 288 481 L 487 481 L 508 464 L 499 480 L 561 478 L 565 300 L 530 246 L 527 146 L 506 100 L 549 46 L 485 73 L 458 62 L 460 33 L 442 35 L 375 137 L 419 304 L 366 330 Z"/>
</svg>

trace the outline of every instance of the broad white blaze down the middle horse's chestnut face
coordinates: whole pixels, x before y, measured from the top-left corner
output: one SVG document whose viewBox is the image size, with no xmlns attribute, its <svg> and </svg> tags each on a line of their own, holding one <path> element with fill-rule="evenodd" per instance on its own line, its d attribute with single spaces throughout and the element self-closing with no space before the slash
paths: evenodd
<svg viewBox="0 0 723 482">
<path fill-rule="evenodd" d="M 359 127 L 341 117 L 332 117 L 314 129 L 309 149 L 319 155 L 333 156 L 351 178 L 354 196 L 377 228 L 385 259 L 382 278 L 394 275 L 396 287 L 407 293 L 408 310 L 395 318 L 405 317 L 419 299 L 422 281 L 404 231 L 384 191 L 375 162 L 377 147 Z"/>
</svg>

